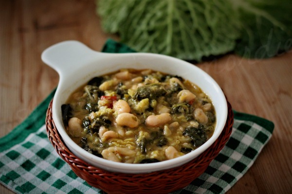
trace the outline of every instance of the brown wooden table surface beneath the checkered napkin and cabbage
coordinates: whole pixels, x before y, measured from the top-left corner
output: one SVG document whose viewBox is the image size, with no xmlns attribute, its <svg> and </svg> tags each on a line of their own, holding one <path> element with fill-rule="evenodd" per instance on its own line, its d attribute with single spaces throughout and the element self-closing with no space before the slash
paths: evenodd
<svg viewBox="0 0 292 194">
<path fill-rule="evenodd" d="M 93 0 L 0 0 L 0 137 L 57 86 L 40 55 L 64 40 L 101 50 L 107 38 Z M 118 39 L 117 39 L 118 40 Z M 233 109 L 274 122 L 270 142 L 228 194 L 292 192 L 292 51 L 267 60 L 226 55 L 197 64 L 222 87 Z M 0 185 L 0 194 L 11 191 Z"/>
</svg>

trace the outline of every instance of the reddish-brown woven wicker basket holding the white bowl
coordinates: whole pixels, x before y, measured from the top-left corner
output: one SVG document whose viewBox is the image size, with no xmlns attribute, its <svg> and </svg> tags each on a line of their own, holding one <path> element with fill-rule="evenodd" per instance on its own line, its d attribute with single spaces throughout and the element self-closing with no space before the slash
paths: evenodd
<svg viewBox="0 0 292 194">
<path fill-rule="evenodd" d="M 199 157 L 182 166 L 146 174 L 124 174 L 105 171 L 91 166 L 77 158 L 65 145 L 55 127 L 52 118 L 52 102 L 47 110 L 46 130 L 48 137 L 61 158 L 67 162 L 73 172 L 93 187 L 109 194 L 167 194 L 186 187 L 198 178 L 209 163 L 225 146 L 232 131 L 233 112 L 228 104 L 228 117 L 219 138 Z"/>
</svg>

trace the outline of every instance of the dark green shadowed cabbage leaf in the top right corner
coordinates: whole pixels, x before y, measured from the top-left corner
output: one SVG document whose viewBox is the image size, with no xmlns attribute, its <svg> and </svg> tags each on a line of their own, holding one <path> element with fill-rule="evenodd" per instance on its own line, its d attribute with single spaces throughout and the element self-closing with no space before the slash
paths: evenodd
<svg viewBox="0 0 292 194">
<path fill-rule="evenodd" d="M 235 52 L 270 58 L 292 48 L 291 0 L 230 0 L 239 13 L 241 39 Z"/>
</svg>

